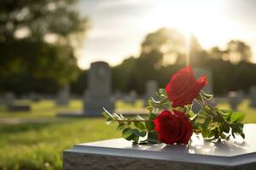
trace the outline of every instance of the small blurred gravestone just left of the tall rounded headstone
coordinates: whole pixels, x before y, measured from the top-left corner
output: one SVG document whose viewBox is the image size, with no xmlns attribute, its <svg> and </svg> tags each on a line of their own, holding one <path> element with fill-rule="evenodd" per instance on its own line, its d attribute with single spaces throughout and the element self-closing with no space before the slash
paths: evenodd
<svg viewBox="0 0 256 170">
<path fill-rule="evenodd" d="M 69 84 L 67 84 L 64 88 L 62 88 L 57 96 L 55 101 L 55 105 L 68 105 L 70 98 L 70 88 Z"/>
</svg>

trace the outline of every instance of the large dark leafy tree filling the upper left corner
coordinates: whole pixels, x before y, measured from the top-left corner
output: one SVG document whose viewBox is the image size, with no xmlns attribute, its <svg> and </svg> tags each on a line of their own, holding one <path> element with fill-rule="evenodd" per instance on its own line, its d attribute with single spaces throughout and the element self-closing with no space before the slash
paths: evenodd
<svg viewBox="0 0 256 170">
<path fill-rule="evenodd" d="M 63 85 L 79 70 L 74 47 L 87 19 L 76 0 L 0 1 L 0 78 L 19 75 L 52 79 Z"/>
</svg>

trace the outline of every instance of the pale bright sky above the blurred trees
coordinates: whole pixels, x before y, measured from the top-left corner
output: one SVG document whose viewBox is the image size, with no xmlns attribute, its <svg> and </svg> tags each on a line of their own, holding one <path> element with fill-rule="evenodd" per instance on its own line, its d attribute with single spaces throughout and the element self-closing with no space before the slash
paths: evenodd
<svg viewBox="0 0 256 170">
<path fill-rule="evenodd" d="M 247 42 L 256 61 L 254 0 L 80 0 L 76 8 L 90 20 L 76 50 L 82 69 L 138 56 L 144 37 L 161 27 L 192 33 L 206 49 L 224 48 L 231 39 Z"/>
</svg>

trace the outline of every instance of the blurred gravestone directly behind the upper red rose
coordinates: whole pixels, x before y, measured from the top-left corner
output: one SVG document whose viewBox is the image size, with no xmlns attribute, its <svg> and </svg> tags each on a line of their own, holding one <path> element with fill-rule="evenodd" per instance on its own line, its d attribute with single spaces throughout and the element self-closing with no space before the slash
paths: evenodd
<svg viewBox="0 0 256 170">
<path fill-rule="evenodd" d="M 213 93 L 213 85 L 212 85 L 212 71 L 210 71 L 209 69 L 206 68 L 193 68 L 194 74 L 195 74 L 195 78 L 198 79 L 199 77 L 201 77 L 202 75 L 205 75 L 207 77 L 207 86 L 204 87 L 202 90 L 204 92 L 206 92 L 207 94 L 212 94 Z M 213 98 L 210 101 L 208 101 L 210 105 L 212 105 L 213 107 L 216 105 L 216 100 Z M 199 105 L 197 102 L 193 102 L 193 107 L 192 110 L 196 113 L 198 111 L 200 111 L 201 109 L 201 105 Z"/>
</svg>

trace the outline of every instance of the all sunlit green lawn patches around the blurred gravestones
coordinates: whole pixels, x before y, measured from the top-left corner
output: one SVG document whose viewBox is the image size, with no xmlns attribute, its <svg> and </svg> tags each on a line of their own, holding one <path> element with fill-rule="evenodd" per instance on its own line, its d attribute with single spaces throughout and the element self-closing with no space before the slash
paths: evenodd
<svg viewBox="0 0 256 170">
<path fill-rule="evenodd" d="M 247 117 L 244 122 L 256 123 L 256 110 L 249 108 L 248 100 L 239 105 Z M 229 108 L 229 105 L 218 105 Z M 141 108 L 143 102 L 125 105 L 118 101 L 117 108 Z M 61 154 L 73 144 L 101 139 L 119 138 L 115 125 L 106 125 L 103 118 L 58 118 L 56 111 L 79 111 L 82 103 L 73 100 L 66 107 L 55 107 L 50 100 L 32 104 L 30 112 L 8 112 L 0 106 L 1 118 L 52 118 L 57 122 L 0 125 L 0 169 L 61 169 Z"/>
</svg>

